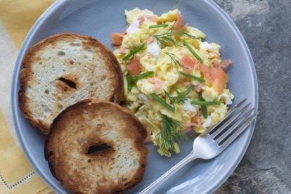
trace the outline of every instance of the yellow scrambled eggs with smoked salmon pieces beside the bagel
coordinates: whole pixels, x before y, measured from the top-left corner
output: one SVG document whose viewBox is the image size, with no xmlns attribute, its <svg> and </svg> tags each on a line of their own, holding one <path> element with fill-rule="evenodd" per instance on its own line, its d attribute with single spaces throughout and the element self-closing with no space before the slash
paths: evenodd
<svg viewBox="0 0 291 194">
<path fill-rule="evenodd" d="M 197 28 L 183 25 L 181 12 L 177 9 L 158 16 L 152 11 L 134 8 L 131 11 L 125 11 L 125 15 L 128 27 L 122 44 L 114 51 L 124 73 L 125 106 L 148 127 L 150 141 L 159 146 L 160 155 L 170 156 L 172 152 L 179 153 L 179 145 L 176 142 L 172 150 L 167 150 L 162 149 L 160 141 L 157 141 L 157 136 L 162 130 L 162 115 L 182 124 L 184 131 L 179 132 L 184 133 L 188 129 L 193 129 L 197 133 L 202 133 L 223 119 L 227 112 L 226 105 L 231 104 L 233 99 L 233 94 L 226 89 L 226 86 L 221 88 L 221 82 L 226 83 L 227 80 L 220 80 L 224 79 L 224 72 L 221 67 L 218 67 L 221 63 L 220 46 L 203 41 L 205 34 Z M 164 27 L 155 25 L 164 25 Z M 175 34 L 175 32 L 184 34 Z M 168 34 L 168 38 L 174 41 L 164 39 L 166 42 L 162 42 L 159 39 L 163 35 L 165 37 L 167 33 L 172 33 Z M 183 41 L 186 41 L 200 57 L 200 64 L 197 65 L 198 58 L 193 56 Z M 137 64 L 141 68 L 139 75 L 153 72 L 153 76 L 136 80 L 129 89 L 131 59 L 124 60 L 124 56 L 141 44 L 145 46 L 134 53 L 139 57 L 139 64 Z M 204 79 L 205 82 L 191 79 L 181 75 L 180 72 Z M 179 96 L 179 92 L 186 91 L 189 86 L 193 86 L 193 89 L 181 103 L 169 101 L 165 94 L 167 92 L 172 96 Z M 157 94 L 165 103 L 172 105 L 174 112 L 154 99 L 151 96 L 152 93 Z M 201 105 L 191 103 L 191 101 L 201 101 L 198 93 L 202 95 L 204 101 L 221 101 L 222 103 L 207 105 L 208 116 L 204 117 Z"/>
</svg>

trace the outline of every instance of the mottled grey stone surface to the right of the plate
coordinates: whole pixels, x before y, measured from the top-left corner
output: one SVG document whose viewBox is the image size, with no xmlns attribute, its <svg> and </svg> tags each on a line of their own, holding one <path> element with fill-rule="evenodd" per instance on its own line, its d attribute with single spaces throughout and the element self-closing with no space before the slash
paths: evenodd
<svg viewBox="0 0 291 194">
<path fill-rule="evenodd" d="M 245 157 L 215 193 L 291 193 L 291 1 L 214 1 L 250 48 L 260 111 Z"/>
</svg>

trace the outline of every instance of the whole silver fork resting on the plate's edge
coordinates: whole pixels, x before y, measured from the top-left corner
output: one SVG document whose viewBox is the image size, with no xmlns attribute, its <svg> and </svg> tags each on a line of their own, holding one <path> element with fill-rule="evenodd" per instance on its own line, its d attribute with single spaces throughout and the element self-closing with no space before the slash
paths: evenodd
<svg viewBox="0 0 291 194">
<path fill-rule="evenodd" d="M 186 164 L 195 160 L 197 158 L 209 160 L 227 148 L 235 138 L 237 138 L 247 127 L 252 123 L 252 121 L 257 117 L 259 112 L 252 115 L 254 108 L 247 111 L 242 117 L 238 118 L 240 115 L 247 110 L 251 103 L 245 105 L 245 107 L 240 108 L 243 103 L 247 101 L 245 98 L 243 101 L 235 105 L 231 110 L 228 111 L 224 119 L 216 124 L 212 129 L 209 129 L 204 134 L 200 134 L 193 143 L 193 150 L 189 155 L 187 155 L 183 160 L 176 164 L 172 169 L 169 169 L 165 174 L 160 176 L 155 182 L 151 183 L 150 186 L 141 191 L 141 194 L 153 193 L 153 191 L 162 185 L 164 181 L 167 181 L 172 175 L 179 171 Z M 235 112 L 238 110 L 237 112 Z M 234 113 L 235 112 L 235 113 Z M 226 120 L 227 119 L 227 120 Z M 226 122 L 224 122 L 226 120 Z M 224 122 L 224 124 L 221 124 Z"/>
</svg>

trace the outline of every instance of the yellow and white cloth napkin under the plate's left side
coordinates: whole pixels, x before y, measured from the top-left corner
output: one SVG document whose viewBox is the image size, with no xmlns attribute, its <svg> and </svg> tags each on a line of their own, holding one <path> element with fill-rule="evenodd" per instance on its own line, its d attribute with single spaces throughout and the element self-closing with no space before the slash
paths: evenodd
<svg viewBox="0 0 291 194">
<path fill-rule="evenodd" d="M 18 49 L 54 0 L 0 0 L 0 193 L 53 193 L 34 172 L 12 121 L 11 79 Z"/>
</svg>

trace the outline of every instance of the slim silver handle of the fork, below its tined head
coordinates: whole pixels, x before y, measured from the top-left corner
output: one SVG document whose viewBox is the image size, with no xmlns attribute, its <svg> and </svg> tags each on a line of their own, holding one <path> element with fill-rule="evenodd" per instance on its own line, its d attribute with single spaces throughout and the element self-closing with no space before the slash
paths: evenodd
<svg viewBox="0 0 291 194">
<path fill-rule="evenodd" d="M 164 173 L 162 176 L 160 176 L 159 179 L 157 179 L 155 182 L 151 183 L 150 186 L 145 188 L 141 191 L 140 194 L 150 194 L 153 193 L 153 191 L 162 185 L 164 181 L 167 181 L 172 175 L 174 175 L 176 172 L 179 171 L 182 167 L 184 167 L 186 164 L 188 164 L 190 161 L 195 160 L 198 158 L 197 155 L 195 155 L 193 152 L 191 152 L 189 155 L 187 155 L 183 160 L 181 160 L 178 164 L 174 165 L 171 169 L 169 169 L 166 173 Z"/>
</svg>

